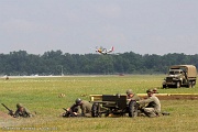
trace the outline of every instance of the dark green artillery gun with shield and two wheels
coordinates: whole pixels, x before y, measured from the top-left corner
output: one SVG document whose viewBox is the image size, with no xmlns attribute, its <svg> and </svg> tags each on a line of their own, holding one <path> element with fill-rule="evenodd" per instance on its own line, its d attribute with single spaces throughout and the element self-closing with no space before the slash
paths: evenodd
<svg viewBox="0 0 198 132">
<path fill-rule="evenodd" d="M 129 105 L 127 103 L 127 96 L 122 95 L 101 95 L 91 97 L 92 110 L 91 116 L 94 118 L 98 117 L 109 117 L 111 114 L 116 116 L 129 116 L 134 118 L 138 116 L 138 103 L 131 100 Z"/>
</svg>

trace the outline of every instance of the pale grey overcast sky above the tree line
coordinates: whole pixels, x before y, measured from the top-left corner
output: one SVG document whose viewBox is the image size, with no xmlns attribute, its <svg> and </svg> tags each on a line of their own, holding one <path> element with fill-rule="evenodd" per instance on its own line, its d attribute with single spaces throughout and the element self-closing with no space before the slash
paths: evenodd
<svg viewBox="0 0 198 132">
<path fill-rule="evenodd" d="M 198 54 L 198 0 L 0 0 L 0 54 Z"/>
</svg>

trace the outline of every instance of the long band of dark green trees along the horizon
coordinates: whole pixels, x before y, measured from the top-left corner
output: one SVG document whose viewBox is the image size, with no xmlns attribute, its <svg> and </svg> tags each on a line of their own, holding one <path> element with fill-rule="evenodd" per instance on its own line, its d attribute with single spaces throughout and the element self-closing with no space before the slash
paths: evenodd
<svg viewBox="0 0 198 132">
<path fill-rule="evenodd" d="M 80 55 L 50 51 L 43 55 L 34 55 L 19 51 L 0 54 L 0 75 L 165 74 L 168 66 L 182 64 L 198 67 L 198 54 L 140 55 L 129 52 L 118 55 Z"/>
</svg>

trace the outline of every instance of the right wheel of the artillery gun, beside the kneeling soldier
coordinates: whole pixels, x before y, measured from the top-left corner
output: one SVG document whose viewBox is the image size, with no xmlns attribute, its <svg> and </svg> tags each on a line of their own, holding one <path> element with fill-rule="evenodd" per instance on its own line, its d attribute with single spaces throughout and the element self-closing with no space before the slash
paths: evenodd
<svg viewBox="0 0 198 132">
<path fill-rule="evenodd" d="M 129 103 L 129 117 L 134 118 L 138 116 L 138 103 L 134 100 L 131 100 Z"/>
</svg>

